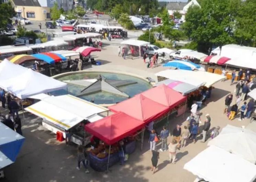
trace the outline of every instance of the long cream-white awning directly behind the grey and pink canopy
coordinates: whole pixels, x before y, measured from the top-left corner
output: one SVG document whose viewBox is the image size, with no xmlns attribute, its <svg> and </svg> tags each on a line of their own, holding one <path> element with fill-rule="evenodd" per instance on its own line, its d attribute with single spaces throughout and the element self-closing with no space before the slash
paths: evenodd
<svg viewBox="0 0 256 182">
<path fill-rule="evenodd" d="M 225 79 L 224 76 L 217 75 L 214 73 L 209 73 L 206 71 L 188 71 L 188 70 L 171 70 L 167 69 L 160 71 L 155 74 L 156 76 L 161 76 L 169 78 L 172 80 L 182 81 L 185 83 L 190 83 L 194 86 L 200 87 L 204 85 L 205 87 L 211 87 L 214 83 Z"/>
</svg>

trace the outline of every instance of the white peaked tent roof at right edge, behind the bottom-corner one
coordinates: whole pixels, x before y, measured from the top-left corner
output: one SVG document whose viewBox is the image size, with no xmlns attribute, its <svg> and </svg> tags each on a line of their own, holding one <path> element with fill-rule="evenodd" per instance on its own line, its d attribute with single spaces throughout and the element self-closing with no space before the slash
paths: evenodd
<svg viewBox="0 0 256 182">
<path fill-rule="evenodd" d="M 208 142 L 208 146 L 212 145 L 234 153 L 253 164 L 256 163 L 256 133 L 252 130 L 227 125 L 217 137 Z"/>
</svg>

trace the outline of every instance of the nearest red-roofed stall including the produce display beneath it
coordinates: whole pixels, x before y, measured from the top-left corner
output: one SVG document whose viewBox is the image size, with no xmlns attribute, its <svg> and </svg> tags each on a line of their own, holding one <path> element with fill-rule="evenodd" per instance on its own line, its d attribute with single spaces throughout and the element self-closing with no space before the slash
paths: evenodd
<svg viewBox="0 0 256 182">
<path fill-rule="evenodd" d="M 133 135 L 142 129 L 144 122 L 123 113 L 117 112 L 97 122 L 87 124 L 86 131 L 104 142 L 104 147 L 95 147 L 89 153 L 90 166 L 96 171 L 105 171 L 119 161 L 118 141 Z M 126 153 L 135 150 L 135 140 L 124 142 Z"/>
</svg>

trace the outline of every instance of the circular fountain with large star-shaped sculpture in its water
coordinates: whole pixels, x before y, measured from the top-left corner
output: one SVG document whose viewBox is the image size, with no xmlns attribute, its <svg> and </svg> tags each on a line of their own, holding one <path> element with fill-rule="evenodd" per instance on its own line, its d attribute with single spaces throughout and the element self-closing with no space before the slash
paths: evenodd
<svg viewBox="0 0 256 182">
<path fill-rule="evenodd" d="M 96 104 L 118 103 L 152 87 L 145 78 L 117 71 L 83 70 L 53 78 L 68 84 L 67 91 L 55 91 L 53 95 L 68 93 Z"/>
</svg>

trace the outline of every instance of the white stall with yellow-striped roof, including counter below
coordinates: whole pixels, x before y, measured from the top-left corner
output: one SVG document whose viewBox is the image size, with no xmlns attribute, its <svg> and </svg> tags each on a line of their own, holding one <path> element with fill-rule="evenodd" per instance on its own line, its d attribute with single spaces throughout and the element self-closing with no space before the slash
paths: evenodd
<svg viewBox="0 0 256 182">
<path fill-rule="evenodd" d="M 107 112 L 105 107 L 79 99 L 72 95 L 60 95 L 43 98 L 25 109 L 43 118 L 42 124 L 53 133 L 70 130 L 71 141 L 78 145 L 90 143 L 91 135 L 85 132 L 83 125 L 103 118 L 99 113 Z"/>
</svg>

